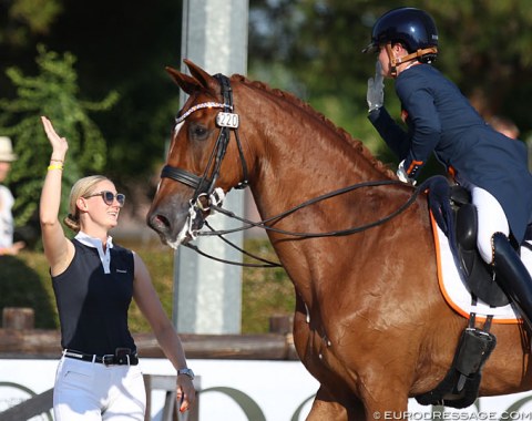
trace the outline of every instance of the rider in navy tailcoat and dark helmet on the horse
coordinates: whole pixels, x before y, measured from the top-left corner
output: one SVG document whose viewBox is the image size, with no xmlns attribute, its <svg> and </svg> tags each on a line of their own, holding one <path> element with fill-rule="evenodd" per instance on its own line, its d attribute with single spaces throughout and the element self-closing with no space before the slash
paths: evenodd
<svg viewBox="0 0 532 421">
<path fill-rule="evenodd" d="M 532 278 L 515 251 L 532 223 L 526 146 L 487 124 L 459 89 L 430 65 L 438 54 L 433 19 L 415 8 L 380 17 L 371 43 L 378 53 L 368 81 L 369 120 L 401 160 L 397 175 L 413 182 L 434 154 L 477 207 L 480 255 L 532 328 Z M 383 107 L 383 78 L 395 81 L 408 131 Z"/>
</svg>

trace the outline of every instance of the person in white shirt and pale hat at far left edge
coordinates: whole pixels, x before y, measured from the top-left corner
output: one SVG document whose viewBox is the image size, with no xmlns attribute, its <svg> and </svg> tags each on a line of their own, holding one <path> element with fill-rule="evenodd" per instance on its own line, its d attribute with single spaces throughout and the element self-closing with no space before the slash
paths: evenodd
<svg viewBox="0 0 532 421">
<path fill-rule="evenodd" d="M 0 136 L 0 256 L 16 255 L 24 248 L 23 242 L 13 243 L 14 223 L 11 208 L 14 198 L 11 191 L 2 185 L 11 170 L 11 163 L 17 160 L 11 140 Z"/>
</svg>

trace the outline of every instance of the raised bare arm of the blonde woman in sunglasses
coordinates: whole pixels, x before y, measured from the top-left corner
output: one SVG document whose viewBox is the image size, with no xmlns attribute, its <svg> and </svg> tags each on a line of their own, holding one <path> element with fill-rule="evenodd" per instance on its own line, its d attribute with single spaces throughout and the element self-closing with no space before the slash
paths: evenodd
<svg viewBox="0 0 532 421">
<path fill-rule="evenodd" d="M 39 218 L 44 255 L 50 264 L 52 275 L 58 275 L 66 269 L 74 254 L 74 247 L 64 236 L 63 227 L 59 222 L 62 167 L 69 144 L 64 137 L 60 137 L 55 133 L 50 120 L 43 116 L 41 121 L 52 145 L 52 155 L 42 186 Z"/>
</svg>

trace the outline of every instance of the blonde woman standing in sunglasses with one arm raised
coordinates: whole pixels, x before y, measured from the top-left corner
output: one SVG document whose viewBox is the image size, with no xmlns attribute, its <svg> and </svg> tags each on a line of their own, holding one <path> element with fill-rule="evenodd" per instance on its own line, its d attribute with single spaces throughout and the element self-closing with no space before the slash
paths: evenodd
<svg viewBox="0 0 532 421">
<path fill-rule="evenodd" d="M 144 420 L 144 381 L 127 327 L 133 298 L 161 348 L 177 371 L 180 410 L 195 399 L 194 373 L 180 338 L 166 317 L 141 257 L 113 244 L 125 196 L 104 176 L 79 179 L 70 194 L 65 237 L 59 222 L 61 177 L 69 148 L 50 120 L 41 117 L 52 146 L 40 202 L 44 255 L 50 264 L 61 324 L 53 411 L 58 421 Z"/>
</svg>

